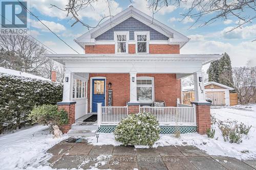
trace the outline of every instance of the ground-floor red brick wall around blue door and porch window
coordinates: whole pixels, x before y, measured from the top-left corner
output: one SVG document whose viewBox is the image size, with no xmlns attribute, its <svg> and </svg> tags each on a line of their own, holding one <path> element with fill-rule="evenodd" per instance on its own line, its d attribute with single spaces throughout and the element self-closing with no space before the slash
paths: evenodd
<svg viewBox="0 0 256 170">
<path fill-rule="evenodd" d="M 154 77 L 155 100 L 165 101 L 166 106 L 176 106 L 177 98 L 181 99 L 180 80 L 176 74 L 137 74 L 137 77 Z M 130 101 L 130 75 L 129 74 L 89 74 L 88 81 L 88 111 L 90 112 L 90 78 L 106 77 L 106 100 L 108 100 L 108 84 L 112 83 L 113 106 L 126 106 Z"/>
</svg>

